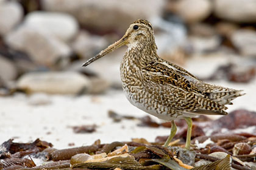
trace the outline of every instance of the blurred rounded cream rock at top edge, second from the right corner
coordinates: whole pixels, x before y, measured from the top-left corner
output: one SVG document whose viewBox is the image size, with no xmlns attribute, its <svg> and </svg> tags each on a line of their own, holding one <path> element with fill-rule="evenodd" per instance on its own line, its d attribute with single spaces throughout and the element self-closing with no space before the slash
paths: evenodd
<svg viewBox="0 0 256 170">
<path fill-rule="evenodd" d="M 180 0 L 177 1 L 176 13 L 186 22 L 199 22 L 212 12 L 209 0 Z"/>
</svg>

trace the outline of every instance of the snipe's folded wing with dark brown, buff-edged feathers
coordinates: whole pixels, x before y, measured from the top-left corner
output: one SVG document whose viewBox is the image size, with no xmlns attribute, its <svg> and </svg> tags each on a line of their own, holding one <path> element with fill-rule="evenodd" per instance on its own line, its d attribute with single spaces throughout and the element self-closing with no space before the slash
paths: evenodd
<svg viewBox="0 0 256 170">
<path fill-rule="evenodd" d="M 165 101 L 163 104 L 172 109 L 194 114 L 226 114 L 223 110 L 227 107 L 210 100 L 193 82 L 165 63 L 150 63 L 141 69 L 141 75 L 145 89 L 158 90 L 159 101 Z"/>
</svg>

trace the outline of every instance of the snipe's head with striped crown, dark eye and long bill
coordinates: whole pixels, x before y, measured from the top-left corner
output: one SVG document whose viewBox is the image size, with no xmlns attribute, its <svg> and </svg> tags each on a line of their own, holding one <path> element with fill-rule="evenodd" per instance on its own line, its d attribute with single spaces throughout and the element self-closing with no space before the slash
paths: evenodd
<svg viewBox="0 0 256 170">
<path fill-rule="evenodd" d="M 140 42 L 154 42 L 154 32 L 152 25 L 149 21 L 144 19 L 138 19 L 132 22 L 125 35 L 121 39 L 108 46 L 107 49 L 102 50 L 100 53 L 98 53 L 98 55 L 90 58 L 90 60 L 85 62 L 82 66 L 88 66 L 89 64 L 93 63 L 93 61 L 96 61 L 102 56 L 107 55 L 107 53 L 113 52 L 113 50 L 118 49 L 121 46 L 126 45 L 129 47 L 129 49 L 132 49 Z"/>
</svg>

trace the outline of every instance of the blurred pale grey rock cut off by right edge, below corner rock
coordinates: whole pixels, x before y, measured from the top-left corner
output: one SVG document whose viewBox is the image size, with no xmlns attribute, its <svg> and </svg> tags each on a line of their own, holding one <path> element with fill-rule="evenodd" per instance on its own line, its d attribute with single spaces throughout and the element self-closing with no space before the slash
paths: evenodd
<svg viewBox="0 0 256 170">
<path fill-rule="evenodd" d="M 242 55 L 256 57 L 256 32 L 254 30 L 236 30 L 231 41 Z"/>
</svg>

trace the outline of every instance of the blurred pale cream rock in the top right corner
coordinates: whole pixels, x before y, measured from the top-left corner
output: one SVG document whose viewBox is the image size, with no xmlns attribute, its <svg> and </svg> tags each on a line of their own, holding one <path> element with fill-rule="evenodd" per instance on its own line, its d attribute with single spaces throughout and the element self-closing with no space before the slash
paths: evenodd
<svg viewBox="0 0 256 170">
<path fill-rule="evenodd" d="M 256 21 L 256 0 L 215 0 L 215 14 L 235 22 Z"/>
</svg>

